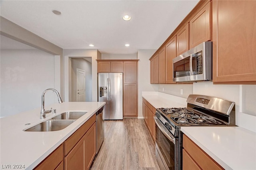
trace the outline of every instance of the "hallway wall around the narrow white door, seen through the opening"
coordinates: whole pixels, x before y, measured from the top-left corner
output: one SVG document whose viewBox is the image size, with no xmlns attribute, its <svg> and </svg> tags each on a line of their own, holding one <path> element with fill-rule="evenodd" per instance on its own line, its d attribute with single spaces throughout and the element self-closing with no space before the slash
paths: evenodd
<svg viewBox="0 0 256 170">
<path fill-rule="evenodd" d="M 81 69 L 86 72 L 86 102 L 92 101 L 92 63 L 86 61 L 84 58 L 72 58 L 71 59 L 72 68 L 72 100 L 71 102 L 76 102 L 76 69 Z"/>
</svg>

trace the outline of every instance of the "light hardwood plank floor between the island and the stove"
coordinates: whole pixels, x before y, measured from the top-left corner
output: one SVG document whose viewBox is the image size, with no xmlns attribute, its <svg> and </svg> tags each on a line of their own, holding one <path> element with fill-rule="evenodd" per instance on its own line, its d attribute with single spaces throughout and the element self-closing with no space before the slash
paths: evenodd
<svg viewBox="0 0 256 170">
<path fill-rule="evenodd" d="M 105 141 L 90 170 L 160 170 L 144 120 L 105 120 Z"/>
</svg>

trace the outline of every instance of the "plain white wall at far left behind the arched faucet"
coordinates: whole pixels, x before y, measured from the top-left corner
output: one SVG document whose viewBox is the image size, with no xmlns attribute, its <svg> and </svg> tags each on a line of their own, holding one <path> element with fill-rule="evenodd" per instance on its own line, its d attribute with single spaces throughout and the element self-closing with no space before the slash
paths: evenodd
<svg viewBox="0 0 256 170">
<path fill-rule="evenodd" d="M 41 107 L 46 88 L 55 88 L 54 56 L 41 50 L 1 50 L 0 116 L 10 116 Z M 45 106 L 58 102 L 56 94 L 45 95 Z M 46 109 L 50 109 L 47 108 Z M 35 113 L 39 114 L 40 113 Z"/>
</svg>

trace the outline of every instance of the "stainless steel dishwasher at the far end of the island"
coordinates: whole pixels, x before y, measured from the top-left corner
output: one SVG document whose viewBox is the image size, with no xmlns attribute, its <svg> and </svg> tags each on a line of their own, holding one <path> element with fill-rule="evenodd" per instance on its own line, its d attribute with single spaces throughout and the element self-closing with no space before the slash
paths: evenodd
<svg viewBox="0 0 256 170">
<path fill-rule="evenodd" d="M 96 112 L 96 154 L 104 140 L 104 106 Z"/>
</svg>

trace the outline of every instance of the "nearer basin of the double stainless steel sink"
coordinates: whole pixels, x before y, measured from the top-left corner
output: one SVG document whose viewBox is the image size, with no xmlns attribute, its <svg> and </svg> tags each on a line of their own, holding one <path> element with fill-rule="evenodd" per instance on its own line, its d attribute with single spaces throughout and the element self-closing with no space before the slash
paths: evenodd
<svg viewBox="0 0 256 170">
<path fill-rule="evenodd" d="M 29 132 L 48 132 L 57 131 L 66 128 L 68 125 L 72 124 L 75 120 L 47 120 L 40 124 L 37 124 L 31 128 L 24 131 Z"/>
</svg>

